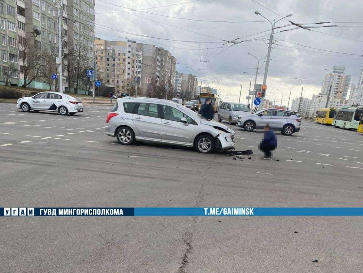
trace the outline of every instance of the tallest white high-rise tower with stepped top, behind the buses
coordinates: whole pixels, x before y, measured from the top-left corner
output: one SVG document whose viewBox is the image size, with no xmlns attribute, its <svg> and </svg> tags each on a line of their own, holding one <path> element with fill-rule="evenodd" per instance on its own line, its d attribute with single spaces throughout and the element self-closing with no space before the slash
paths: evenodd
<svg viewBox="0 0 363 273">
<path fill-rule="evenodd" d="M 346 99 L 351 76 L 344 73 L 343 66 L 334 65 L 333 73 L 324 76 L 321 95 L 327 96 L 331 85 L 330 98 Z"/>
</svg>

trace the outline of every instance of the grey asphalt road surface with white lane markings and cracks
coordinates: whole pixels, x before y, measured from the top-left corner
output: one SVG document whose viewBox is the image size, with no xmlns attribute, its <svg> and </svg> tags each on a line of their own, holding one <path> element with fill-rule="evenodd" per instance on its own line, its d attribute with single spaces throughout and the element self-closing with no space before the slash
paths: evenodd
<svg viewBox="0 0 363 273">
<path fill-rule="evenodd" d="M 232 125 L 236 150 L 254 151 L 233 160 L 119 145 L 103 132 L 109 108 L 61 116 L 0 104 L 0 206 L 362 206 L 357 132 L 303 121 L 278 136 L 275 160 L 261 160 L 262 135 Z M 0 272 L 363 272 L 362 217 L 0 220 Z"/>
</svg>

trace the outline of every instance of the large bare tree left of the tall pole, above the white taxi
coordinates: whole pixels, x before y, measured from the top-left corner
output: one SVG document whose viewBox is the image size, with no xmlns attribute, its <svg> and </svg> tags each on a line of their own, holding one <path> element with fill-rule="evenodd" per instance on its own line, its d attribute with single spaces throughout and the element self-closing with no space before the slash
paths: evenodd
<svg viewBox="0 0 363 273">
<path fill-rule="evenodd" d="M 30 37 L 28 39 L 21 39 L 19 42 L 19 55 L 24 57 L 24 88 L 31 84 L 32 81 L 45 76 L 44 52 L 40 48 L 37 48 L 36 44 L 34 44 L 34 47 L 30 47 L 29 41 Z"/>
</svg>

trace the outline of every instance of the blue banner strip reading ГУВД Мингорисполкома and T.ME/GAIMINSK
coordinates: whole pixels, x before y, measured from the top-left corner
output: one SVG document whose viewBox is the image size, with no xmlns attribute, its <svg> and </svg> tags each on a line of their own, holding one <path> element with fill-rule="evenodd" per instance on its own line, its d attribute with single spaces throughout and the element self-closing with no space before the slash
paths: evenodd
<svg viewBox="0 0 363 273">
<path fill-rule="evenodd" d="M 8 216 L 363 216 L 363 208 L 0 208 Z"/>
</svg>

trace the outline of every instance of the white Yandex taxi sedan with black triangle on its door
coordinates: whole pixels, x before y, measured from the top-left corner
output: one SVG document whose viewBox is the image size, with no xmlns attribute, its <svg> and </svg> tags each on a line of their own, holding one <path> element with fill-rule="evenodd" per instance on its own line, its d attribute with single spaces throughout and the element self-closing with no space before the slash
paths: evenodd
<svg viewBox="0 0 363 273">
<path fill-rule="evenodd" d="M 61 115 L 74 115 L 83 112 L 81 100 L 59 92 L 40 92 L 33 97 L 23 97 L 17 100 L 16 107 L 24 112 L 33 110 L 58 112 Z"/>
</svg>

